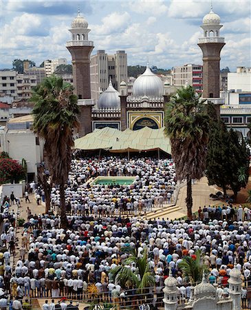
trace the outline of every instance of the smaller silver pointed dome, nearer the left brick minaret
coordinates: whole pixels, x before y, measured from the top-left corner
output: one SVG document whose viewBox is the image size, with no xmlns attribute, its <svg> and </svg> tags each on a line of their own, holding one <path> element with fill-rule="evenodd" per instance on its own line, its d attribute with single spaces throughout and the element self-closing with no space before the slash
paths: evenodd
<svg viewBox="0 0 251 310">
<path fill-rule="evenodd" d="M 111 81 L 105 92 L 100 94 L 98 99 L 99 109 L 119 109 L 120 108 L 120 93 L 113 87 Z"/>
</svg>

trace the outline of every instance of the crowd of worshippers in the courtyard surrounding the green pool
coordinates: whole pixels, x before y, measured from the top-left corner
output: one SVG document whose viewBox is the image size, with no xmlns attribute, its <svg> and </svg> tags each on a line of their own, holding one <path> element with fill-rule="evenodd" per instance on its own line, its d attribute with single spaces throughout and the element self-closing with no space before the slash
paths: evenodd
<svg viewBox="0 0 251 310">
<path fill-rule="evenodd" d="M 67 211 L 88 216 L 141 214 L 153 206 L 171 204 L 175 190 L 175 167 L 171 159 L 105 157 L 72 160 L 65 188 Z M 87 183 L 96 176 L 135 176 L 131 185 Z M 52 188 L 52 205 L 59 213 L 60 195 Z"/>
</svg>

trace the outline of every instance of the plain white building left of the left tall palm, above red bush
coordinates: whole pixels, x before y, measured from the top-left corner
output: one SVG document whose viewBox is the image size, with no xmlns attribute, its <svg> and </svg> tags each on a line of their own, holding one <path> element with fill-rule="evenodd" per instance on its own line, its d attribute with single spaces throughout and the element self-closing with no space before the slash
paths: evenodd
<svg viewBox="0 0 251 310">
<path fill-rule="evenodd" d="M 0 130 L 1 152 L 8 152 L 11 158 L 27 163 L 28 181 L 36 180 L 37 168 L 43 161 L 43 141 L 32 130 L 31 115 L 10 118 L 6 127 Z"/>
</svg>

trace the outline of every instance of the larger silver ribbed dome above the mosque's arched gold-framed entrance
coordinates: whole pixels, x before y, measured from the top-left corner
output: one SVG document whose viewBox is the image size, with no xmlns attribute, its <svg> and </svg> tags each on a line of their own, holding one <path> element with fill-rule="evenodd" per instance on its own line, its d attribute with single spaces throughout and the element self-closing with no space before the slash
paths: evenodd
<svg viewBox="0 0 251 310">
<path fill-rule="evenodd" d="M 151 72 L 149 65 L 146 65 L 146 71 L 141 74 L 133 83 L 133 96 L 163 96 L 163 83 L 159 76 Z"/>
</svg>

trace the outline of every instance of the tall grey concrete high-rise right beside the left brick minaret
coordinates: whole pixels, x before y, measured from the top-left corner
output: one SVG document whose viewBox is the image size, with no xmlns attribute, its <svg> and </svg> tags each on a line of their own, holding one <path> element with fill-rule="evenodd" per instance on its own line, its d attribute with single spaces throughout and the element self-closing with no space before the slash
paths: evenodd
<svg viewBox="0 0 251 310">
<path fill-rule="evenodd" d="M 127 82 L 127 54 L 118 50 L 116 54 L 107 54 L 98 50 L 91 56 L 91 98 L 98 101 L 100 92 L 104 92 L 109 81 L 120 91 L 120 83 Z"/>
</svg>

